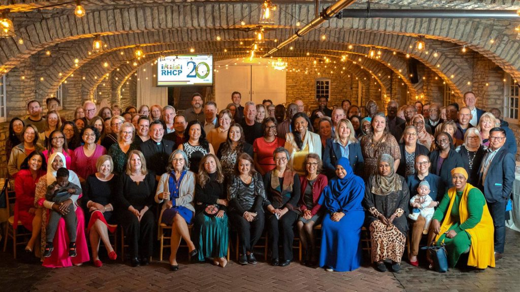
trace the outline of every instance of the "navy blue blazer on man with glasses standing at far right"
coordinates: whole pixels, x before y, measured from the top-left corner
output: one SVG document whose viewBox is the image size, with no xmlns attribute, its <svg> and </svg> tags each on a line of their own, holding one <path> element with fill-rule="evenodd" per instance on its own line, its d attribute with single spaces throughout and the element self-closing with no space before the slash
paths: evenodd
<svg viewBox="0 0 520 292">
<path fill-rule="evenodd" d="M 491 161 L 484 185 L 478 187 L 488 203 L 497 203 L 510 198 L 514 181 L 515 155 L 503 145 Z"/>
</svg>

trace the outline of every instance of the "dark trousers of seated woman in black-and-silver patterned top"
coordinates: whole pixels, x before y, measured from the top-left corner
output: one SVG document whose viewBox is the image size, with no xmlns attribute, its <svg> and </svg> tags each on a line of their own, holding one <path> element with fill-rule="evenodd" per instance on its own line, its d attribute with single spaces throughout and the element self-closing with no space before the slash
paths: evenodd
<svg viewBox="0 0 520 292">
<path fill-rule="evenodd" d="M 233 224 L 237 230 L 238 238 L 240 239 L 242 246 L 241 254 L 245 255 L 247 251 L 253 252 L 253 247 L 264 231 L 264 212 L 259 211 L 255 220 L 249 222 L 248 220 L 245 220 L 242 215 L 231 211 L 231 213 L 229 213 L 229 220 L 231 220 L 231 224 Z"/>
</svg>

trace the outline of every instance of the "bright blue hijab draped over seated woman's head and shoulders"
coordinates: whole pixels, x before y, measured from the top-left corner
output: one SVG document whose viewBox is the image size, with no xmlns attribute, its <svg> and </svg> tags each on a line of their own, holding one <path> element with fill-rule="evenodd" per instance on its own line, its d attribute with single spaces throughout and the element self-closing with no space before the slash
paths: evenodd
<svg viewBox="0 0 520 292">
<path fill-rule="evenodd" d="M 341 165 L 347 174 L 342 179 L 335 177 L 329 182 L 320 198 L 320 201 L 323 201 L 320 204 L 331 212 L 363 210 L 361 201 L 365 196 L 365 183 L 354 174 L 348 158 L 341 157 L 337 165 Z"/>
</svg>

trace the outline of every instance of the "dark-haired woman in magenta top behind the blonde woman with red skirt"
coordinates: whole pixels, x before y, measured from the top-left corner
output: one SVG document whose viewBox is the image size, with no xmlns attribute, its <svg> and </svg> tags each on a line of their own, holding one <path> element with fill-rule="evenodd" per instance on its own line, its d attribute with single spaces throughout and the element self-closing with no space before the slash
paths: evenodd
<svg viewBox="0 0 520 292">
<path fill-rule="evenodd" d="M 97 172 L 97 159 L 101 155 L 107 154 L 105 147 L 97 143 L 99 137 L 100 133 L 96 127 L 86 126 L 81 135 L 85 144 L 74 149 L 72 166 L 70 168 L 76 172 L 81 181 L 85 181 L 89 175 Z"/>
</svg>

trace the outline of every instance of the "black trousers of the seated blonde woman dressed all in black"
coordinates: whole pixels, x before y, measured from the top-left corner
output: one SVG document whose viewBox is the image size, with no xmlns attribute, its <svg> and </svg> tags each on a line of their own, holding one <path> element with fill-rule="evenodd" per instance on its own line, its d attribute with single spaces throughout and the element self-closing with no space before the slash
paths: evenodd
<svg viewBox="0 0 520 292">
<path fill-rule="evenodd" d="M 128 210 L 120 210 L 118 218 L 125 231 L 131 258 L 150 257 L 153 252 L 154 216 L 152 211 L 146 211 L 141 221 Z"/>
</svg>

